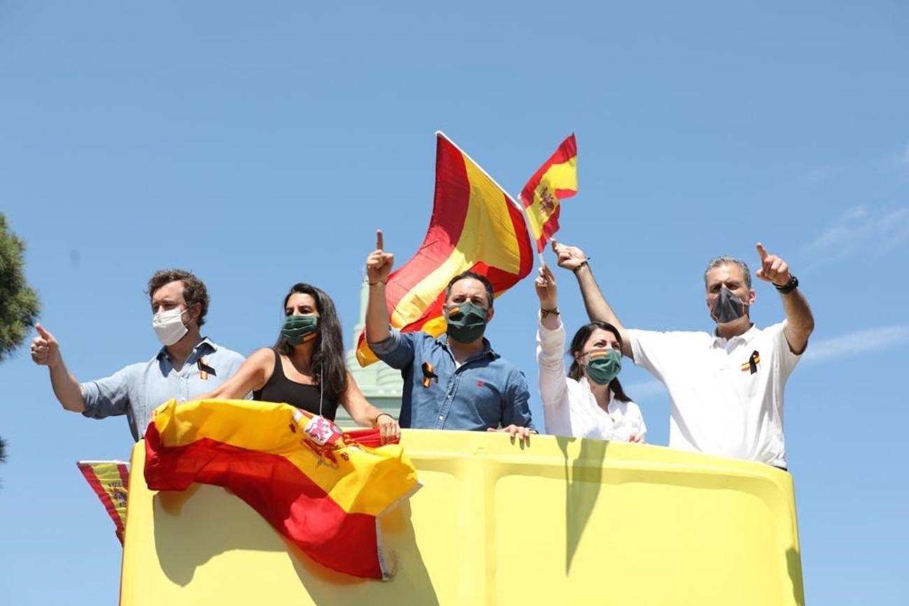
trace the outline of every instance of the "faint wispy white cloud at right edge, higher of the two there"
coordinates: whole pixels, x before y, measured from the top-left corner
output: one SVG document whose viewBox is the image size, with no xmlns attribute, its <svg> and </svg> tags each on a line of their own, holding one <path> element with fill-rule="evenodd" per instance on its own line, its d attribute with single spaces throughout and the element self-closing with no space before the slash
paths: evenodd
<svg viewBox="0 0 909 606">
<path fill-rule="evenodd" d="M 854 206 L 808 244 L 805 253 L 834 260 L 856 253 L 887 253 L 909 241 L 909 207 Z"/>
</svg>

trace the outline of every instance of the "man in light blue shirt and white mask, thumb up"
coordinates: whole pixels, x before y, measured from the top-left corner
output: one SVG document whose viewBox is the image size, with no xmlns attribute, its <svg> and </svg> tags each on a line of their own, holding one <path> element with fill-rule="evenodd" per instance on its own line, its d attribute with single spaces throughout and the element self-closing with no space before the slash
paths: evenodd
<svg viewBox="0 0 909 606">
<path fill-rule="evenodd" d="M 148 362 L 126 366 L 109 377 L 80 383 L 66 370 L 54 335 L 38 324 L 32 360 L 47 366 L 57 400 L 67 411 L 103 419 L 125 414 L 138 441 L 158 405 L 192 400 L 225 382 L 243 356 L 199 332 L 208 312 L 205 283 L 182 270 L 157 272 L 148 281 L 152 327 L 164 347 Z"/>
</svg>

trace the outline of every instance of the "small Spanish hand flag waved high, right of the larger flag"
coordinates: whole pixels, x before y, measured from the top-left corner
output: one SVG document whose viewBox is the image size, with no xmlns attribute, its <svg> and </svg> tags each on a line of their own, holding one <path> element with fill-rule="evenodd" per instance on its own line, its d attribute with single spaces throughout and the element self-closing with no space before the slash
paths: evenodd
<svg viewBox="0 0 909 606">
<path fill-rule="evenodd" d="M 574 194 L 577 194 L 577 142 L 571 134 L 521 190 L 521 204 L 527 212 L 537 252 L 543 252 L 546 242 L 559 229 L 559 203 Z"/>
</svg>

